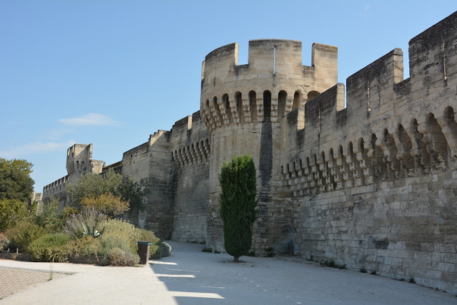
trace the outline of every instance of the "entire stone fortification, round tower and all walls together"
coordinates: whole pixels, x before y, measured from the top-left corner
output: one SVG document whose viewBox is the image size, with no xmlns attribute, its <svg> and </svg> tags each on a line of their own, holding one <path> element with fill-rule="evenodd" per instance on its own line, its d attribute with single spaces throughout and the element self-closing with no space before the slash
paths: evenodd
<svg viewBox="0 0 457 305">
<path fill-rule="evenodd" d="M 238 44 L 222 46 L 203 63 L 200 111 L 102 171 L 149 180 L 135 224 L 224 251 L 221 164 L 251 154 L 257 255 L 334 260 L 457 294 L 456 46 L 454 13 L 411 39 L 409 79 L 393 49 L 346 89 L 335 46 L 313 44 L 311 66 L 300 41 L 249 41 L 245 65 Z M 75 149 L 69 176 L 44 197 L 64 196 L 62 185 L 84 174 L 91 146 Z"/>
</svg>

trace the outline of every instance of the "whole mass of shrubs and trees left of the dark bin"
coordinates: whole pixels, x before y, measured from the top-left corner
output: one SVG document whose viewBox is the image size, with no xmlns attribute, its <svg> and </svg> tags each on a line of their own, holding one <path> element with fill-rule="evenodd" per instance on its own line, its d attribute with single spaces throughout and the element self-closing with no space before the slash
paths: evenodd
<svg viewBox="0 0 457 305">
<path fill-rule="evenodd" d="M 147 180 L 135 181 L 113 170 L 104 176 L 86 174 L 66 186 L 70 206 L 59 209 L 59 200 L 51 199 L 38 207 L 36 201 L 29 203 L 32 164 L 0 158 L 0 165 L 9 173 L 5 185 L 14 186 L 2 189 L 0 196 L 0 257 L 134 266 L 139 262 L 138 241 L 151 243 L 150 259 L 171 253 L 171 246 L 153 232 L 116 219 L 144 209 Z M 24 184 L 20 188 L 19 178 Z"/>
</svg>

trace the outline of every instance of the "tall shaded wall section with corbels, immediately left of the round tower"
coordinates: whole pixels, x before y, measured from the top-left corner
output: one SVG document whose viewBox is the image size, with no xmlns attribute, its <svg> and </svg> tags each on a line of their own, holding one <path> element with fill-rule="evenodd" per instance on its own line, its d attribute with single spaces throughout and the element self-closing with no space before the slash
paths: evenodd
<svg viewBox="0 0 457 305">
<path fill-rule="evenodd" d="M 206 241 L 211 139 L 200 113 L 171 129 L 174 164 L 174 224 L 171 239 Z"/>
</svg>

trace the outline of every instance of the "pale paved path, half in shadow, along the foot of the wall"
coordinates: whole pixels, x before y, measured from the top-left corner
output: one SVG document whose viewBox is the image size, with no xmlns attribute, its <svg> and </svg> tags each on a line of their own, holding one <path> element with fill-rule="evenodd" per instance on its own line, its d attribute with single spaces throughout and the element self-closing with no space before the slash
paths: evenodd
<svg viewBox="0 0 457 305">
<path fill-rule="evenodd" d="M 74 274 L 24 287 L 0 304 L 457 304 L 456 296 L 405 281 L 296 259 L 243 256 L 234 264 L 202 245 L 170 244 L 171 256 L 141 267 L 53 263 L 54 272 Z M 0 270 L 49 266 L 0 260 Z"/>
</svg>

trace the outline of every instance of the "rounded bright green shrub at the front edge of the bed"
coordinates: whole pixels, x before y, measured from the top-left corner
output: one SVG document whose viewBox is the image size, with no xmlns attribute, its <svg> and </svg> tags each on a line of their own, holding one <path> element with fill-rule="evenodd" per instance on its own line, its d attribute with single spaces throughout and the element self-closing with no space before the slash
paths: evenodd
<svg viewBox="0 0 457 305">
<path fill-rule="evenodd" d="M 69 234 L 46 234 L 31 242 L 29 254 L 34 261 L 66 261 L 66 244 L 71 240 Z"/>
</svg>

